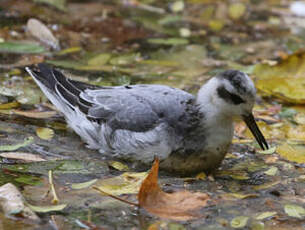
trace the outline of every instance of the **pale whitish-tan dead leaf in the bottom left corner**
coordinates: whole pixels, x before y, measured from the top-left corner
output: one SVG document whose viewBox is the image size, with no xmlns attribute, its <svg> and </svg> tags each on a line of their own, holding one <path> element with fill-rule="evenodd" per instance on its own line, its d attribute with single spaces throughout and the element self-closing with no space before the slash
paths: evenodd
<svg viewBox="0 0 305 230">
<path fill-rule="evenodd" d="M 22 194 L 11 183 L 0 187 L 0 207 L 7 216 L 39 221 L 39 217 L 25 206 Z"/>
</svg>

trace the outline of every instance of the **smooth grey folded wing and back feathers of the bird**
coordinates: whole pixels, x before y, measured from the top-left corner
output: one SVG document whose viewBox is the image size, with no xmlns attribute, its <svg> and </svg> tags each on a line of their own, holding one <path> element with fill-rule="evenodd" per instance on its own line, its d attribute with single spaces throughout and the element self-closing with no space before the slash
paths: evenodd
<svg viewBox="0 0 305 230">
<path fill-rule="evenodd" d="M 80 97 L 91 103 L 88 117 L 112 129 L 147 132 L 162 122 L 175 126 L 194 100 L 182 90 L 159 85 L 134 85 L 85 90 Z"/>
</svg>

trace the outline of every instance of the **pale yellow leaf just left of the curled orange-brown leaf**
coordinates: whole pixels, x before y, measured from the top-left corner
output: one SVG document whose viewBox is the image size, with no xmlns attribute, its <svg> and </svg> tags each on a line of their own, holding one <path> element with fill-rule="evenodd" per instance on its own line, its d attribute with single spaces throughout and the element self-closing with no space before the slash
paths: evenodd
<svg viewBox="0 0 305 230">
<path fill-rule="evenodd" d="M 120 176 L 98 180 L 95 184 L 101 191 L 112 195 L 136 194 L 147 172 L 131 173 L 126 172 Z"/>
</svg>

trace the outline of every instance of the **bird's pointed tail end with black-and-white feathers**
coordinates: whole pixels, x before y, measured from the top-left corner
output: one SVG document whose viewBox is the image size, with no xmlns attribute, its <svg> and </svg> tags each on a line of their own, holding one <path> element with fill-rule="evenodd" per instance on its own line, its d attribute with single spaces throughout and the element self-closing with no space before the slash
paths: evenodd
<svg viewBox="0 0 305 230">
<path fill-rule="evenodd" d="M 37 68 L 26 67 L 26 71 L 46 97 L 64 114 L 69 126 L 87 142 L 88 147 L 98 149 L 99 141 L 96 136 L 99 126 L 87 117 L 92 104 L 81 98 L 83 91 L 97 86 L 68 79 L 46 64 L 38 64 Z"/>
</svg>

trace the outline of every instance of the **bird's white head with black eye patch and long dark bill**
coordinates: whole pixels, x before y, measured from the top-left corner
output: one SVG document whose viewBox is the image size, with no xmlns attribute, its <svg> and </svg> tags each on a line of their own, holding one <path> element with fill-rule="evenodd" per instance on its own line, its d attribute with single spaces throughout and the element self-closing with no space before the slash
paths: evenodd
<svg viewBox="0 0 305 230">
<path fill-rule="evenodd" d="M 198 93 L 197 102 L 211 116 L 224 119 L 241 117 L 264 148 L 267 142 L 252 115 L 256 90 L 250 77 L 238 70 L 227 70 L 210 79 Z"/>
</svg>

